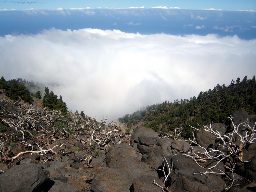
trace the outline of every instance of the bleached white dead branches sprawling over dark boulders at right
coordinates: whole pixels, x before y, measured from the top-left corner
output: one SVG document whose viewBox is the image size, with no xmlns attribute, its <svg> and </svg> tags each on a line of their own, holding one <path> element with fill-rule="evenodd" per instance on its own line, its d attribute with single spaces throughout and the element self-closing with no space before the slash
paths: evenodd
<svg viewBox="0 0 256 192">
<path fill-rule="evenodd" d="M 199 146 L 203 152 L 195 152 L 193 150 L 193 147 L 191 146 L 191 152 L 188 152 L 187 154 L 182 154 L 188 157 L 191 157 L 195 160 L 198 166 L 203 167 L 200 162 L 206 162 L 209 160 L 215 160 L 215 163 L 207 168 L 208 171 L 200 172 L 200 173 L 194 173 L 194 174 L 204 174 L 207 176 L 207 174 L 221 174 L 221 175 L 227 175 L 225 172 L 220 171 L 212 171 L 213 168 L 216 168 L 220 162 L 224 162 L 229 157 L 232 157 L 233 161 L 230 161 L 230 166 L 225 165 L 226 169 L 229 170 L 232 176 L 233 170 L 235 168 L 235 165 L 237 163 L 245 163 L 246 161 L 243 160 L 242 155 L 243 151 L 246 147 L 248 147 L 249 144 L 254 143 L 256 141 L 256 129 L 255 124 L 250 125 L 249 121 L 245 121 L 241 124 L 235 125 L 232 121 L 232 117 L 229 118 L 231 120 L 231 123 L 234 127 L 233 131 L 231 133 L 223 134 L 219 131 L 215 131 L 213 129 L 212 124 L 209 124 L 208 126 L 203 126 L 202 129 L 196 129 L 192 127 L 193 130 L 196 131 L 205 131 L 210 132 L 211 134 L 215 135 L 217 138 L 220 139 L 218 142 L 218 149 L 213 148 L 204 148 L 200 146 L 195 138 L 193 140 L 189 139 L 186 141 L 189 141 L 191 144 Z M 243 130 L 240 129 L 240 127 L 243 127 Z M 237 139 L 239 138 L 239 139 Z M 234 183 L 234 177 L 230 178 L 230 180 L 233 180 L 232 184 Z M 228 190 L 231 186 L 227 187 L 226 190 Z"/>
</svg>

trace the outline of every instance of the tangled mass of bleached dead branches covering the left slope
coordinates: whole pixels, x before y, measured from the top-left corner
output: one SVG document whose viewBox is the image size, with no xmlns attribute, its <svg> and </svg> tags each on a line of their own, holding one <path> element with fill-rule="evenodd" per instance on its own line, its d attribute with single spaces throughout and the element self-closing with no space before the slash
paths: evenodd
<svg viewBox="0 0 256 192">
<path fill-rule="evenodd" d="M 47 161 L 54 154 L 52 150 L 54 147 L 60 147 L 55 152 L 67 155 L 73 150 L 68 150 L 66 145 L 75 146 L 77 142 L 81 142 L 85 150 L 88 148 L 101 150 L 102 147 L 106 150 L 110 146 L 110 141 L 113 144 L 129 142 L 131 137 L 130 133 L 122 131 L 121 125 L 117 122 L 112 121 L 107 124 L 107 117 L 102 116 L 101 121 L 97 122 L 95 118 L 72 112 L 63 116 L 60 111 L 36 108 L 32 104 L 7 100 L 0 102 L 2 103 L 0 121 L 15 132 L 10 136 L 0 133 L 0 157 L 6 163 L 27 153 L 42 154 L 44 157 L 42 161 Z M 7 140 L 21 141 L 23 148 L 28 150 L 12 154 L 11 148 L 6 148 Z M 87 157 L 90 167 L 92 156 Z"/>
</svg>

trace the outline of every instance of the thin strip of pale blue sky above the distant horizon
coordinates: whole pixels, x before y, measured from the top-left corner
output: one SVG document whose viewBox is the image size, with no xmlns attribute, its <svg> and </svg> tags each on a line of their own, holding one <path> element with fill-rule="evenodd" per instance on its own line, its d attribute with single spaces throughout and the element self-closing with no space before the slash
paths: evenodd
<svg viewBox="0 0 256 192">
<path fill-rule="evenodd" d="M 68 9 L 71 7 L 128 7 L 151 8 L 156 6 L 179 7 L 181 9 L 222 9 L 222 10 L 253 10 L 256 11 L 255 0 L 6 0 L 1 1 L 0 9 Z"/>
</svg>

